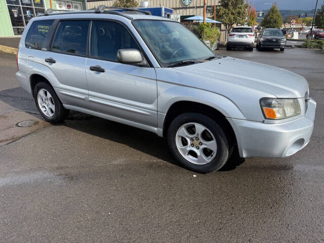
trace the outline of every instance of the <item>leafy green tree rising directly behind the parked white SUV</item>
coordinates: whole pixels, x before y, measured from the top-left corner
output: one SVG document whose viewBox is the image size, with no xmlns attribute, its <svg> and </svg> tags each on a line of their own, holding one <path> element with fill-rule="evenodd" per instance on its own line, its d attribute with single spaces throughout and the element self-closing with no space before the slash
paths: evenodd
<svg viewBox="0 0 324 243">
<path fill-rule="evenodd" d="M 220 6 L 216 9 L 217 20 L 230 31 L 234 24 L 244 24 L 247 17 L 248 5 L 245 0 L 220 0 Z M 214 13 L 211 16 L 214 19 Z"/>
</svg>

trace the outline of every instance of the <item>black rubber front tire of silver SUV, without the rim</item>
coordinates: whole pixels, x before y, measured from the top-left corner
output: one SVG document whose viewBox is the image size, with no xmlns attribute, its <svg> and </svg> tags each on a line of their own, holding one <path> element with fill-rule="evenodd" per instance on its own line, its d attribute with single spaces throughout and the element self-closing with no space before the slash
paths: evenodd
<svg viewBox="0 0 324 243">
<path fill-rule="evenodd" d="M 176 145 L 176 133 L 178 129 L 186 123 L 198 123 L 204 125 L 213 133 L 217 142 L 217 153 L 210 163 L 206 165 L 190 163 L 178 151 Z M 199 113 L 183 113 L 177 116 L 168 129 L 168 143 L 173 155 L 179 163 L 185 168 L 198 173 L 205 174 L 221 169 L 226 164 L 229 157 L 229 143 L 224 129 L 222 129 L 222 127 L 209 116 Z"/>
</svg>

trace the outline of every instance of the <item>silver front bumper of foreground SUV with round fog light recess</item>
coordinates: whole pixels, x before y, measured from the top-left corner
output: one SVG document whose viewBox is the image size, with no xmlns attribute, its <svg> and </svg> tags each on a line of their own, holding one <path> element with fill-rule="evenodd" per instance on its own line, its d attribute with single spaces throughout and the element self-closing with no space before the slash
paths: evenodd
<svg viewBox="0 0 324 243">
<path fill-rule="evenodd" d="M 241 157 L 287 157 L 304 148 L 313 132 L 316 102 L 308 102 L 305 116 L 280 124 L 227 118 Z"/>
</svg>

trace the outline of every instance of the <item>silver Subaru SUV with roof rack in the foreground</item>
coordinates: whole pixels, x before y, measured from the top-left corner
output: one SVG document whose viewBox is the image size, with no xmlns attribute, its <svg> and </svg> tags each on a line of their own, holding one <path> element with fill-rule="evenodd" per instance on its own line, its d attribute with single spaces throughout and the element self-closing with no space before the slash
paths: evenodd
<svg viewBox="0 0 324 243">
<path fill-rule="evenodd" d="M 316 103 L 304 77 L 217 57 L 167 18 L 106 9 L 29 21 L 16 76 L 45 120 L 75 110 L 151 131 L 199 173 L 219 170 L 233 151 L 286 157 L 309 142 Z"/>
</svg>

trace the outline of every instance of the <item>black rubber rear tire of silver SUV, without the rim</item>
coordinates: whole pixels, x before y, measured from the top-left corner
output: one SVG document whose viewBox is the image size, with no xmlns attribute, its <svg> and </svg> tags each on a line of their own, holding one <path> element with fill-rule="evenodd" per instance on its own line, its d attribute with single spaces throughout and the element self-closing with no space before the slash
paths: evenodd
<svg viewBox="0 0 324 243">
<path fill-rule="evenodd" d="M 54 115 L 51 117 L 48 117 L 47 115 L 45 115 L 43 113 L 43 111 L 41 110 L 41 107 L 39 107 L 39 105 L 38 105 L 37 94 L 38 94 L 38 91 L 41 89 L 45 89 L 47 92 L 49 92 L 51 94 L 51 96 L 53 98 L 54 105 L 55 105 L 55 111 L 54 111 Z M 45 120 L 50 121 L 51 123 L 57 123 L 62 120 L 62 118 L 65 114 L 63 105 L 62 105 L 61 101 L 59 100 L 59 98 L 57 97 L 54 89 L 50 85 L 43 83 L 43 82 L 38 83 L 34 89 L 34 100 L 35 100 L 35 104 L 36 104 L 36 107 L 37 107 L 39 113 L 41 113 L 41 115 L 43 116 L 43 118 Z"/>
</svg>

